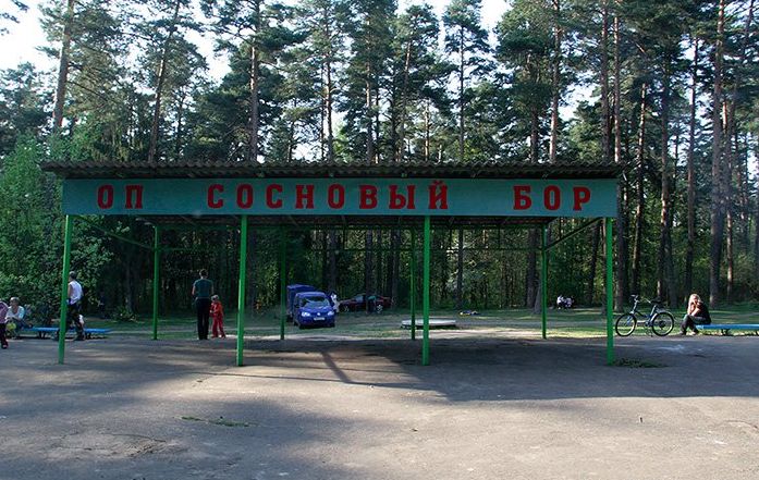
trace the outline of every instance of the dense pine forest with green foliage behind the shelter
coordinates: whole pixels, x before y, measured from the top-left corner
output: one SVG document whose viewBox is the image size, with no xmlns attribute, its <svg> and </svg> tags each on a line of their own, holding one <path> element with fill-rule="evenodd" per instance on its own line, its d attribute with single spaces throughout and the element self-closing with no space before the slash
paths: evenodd
<svg viewBox="0 0 759 480">
<path fill-rule="evenodd" d="M 56 305 L 60 182 L 48 160 L 616 163 L 614 305 L 759 298 L 759 29 L 754 0 L 2 0 L 0 40 L 40 9 L 54 69 L 0 65 L 0 296 Z M 201 42 L 203 45 L 199 45 Z M 217 78 L 203 51 L 228 62 Z M 152 229 L 76 224 L 90 303 L 150 305 Z M 550 235 L 577 222 L 553 222 Z M 238 236 L 167 232 L 161 308 L 208 268 L 235 300 Z M 603 299 L 602 225 L 552 251 L 549 296 Z M 253 305 L 279 299 L 274 232 L 249 235 Z M 408 232 L 290 232 L 287 281 L 408 304 Z M 534 306 L 535 231 L 437 230 L 432 304 Z M 489 248 L 488 248 L 489 247 Z M 417 282 L 419 285 L 420 282 Z"/>
</svg>

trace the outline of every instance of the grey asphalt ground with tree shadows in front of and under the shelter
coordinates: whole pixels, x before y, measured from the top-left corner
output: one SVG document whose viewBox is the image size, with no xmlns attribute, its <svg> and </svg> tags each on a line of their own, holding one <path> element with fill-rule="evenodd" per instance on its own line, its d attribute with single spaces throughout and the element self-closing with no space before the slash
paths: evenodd
<svg viewBox="0 0 759 480">
<path fill-rule="evenodd" d="M 0 350 L 0 479 L 758 479 L 759 337 L 149 341 Z"/>
</svg>

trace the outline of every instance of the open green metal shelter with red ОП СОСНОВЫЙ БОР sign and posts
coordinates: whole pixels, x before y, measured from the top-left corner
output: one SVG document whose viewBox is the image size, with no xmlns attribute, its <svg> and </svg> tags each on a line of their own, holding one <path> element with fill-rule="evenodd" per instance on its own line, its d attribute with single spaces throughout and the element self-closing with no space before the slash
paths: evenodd
<svg viewBox="0 0 759 480">
<path fill-rule="evenodd" d="M 421 362 L 429 364 L 430 231 L 434 227 L 542 230 L 542 336 L 546 337 L 547 244 L 555 218 L 604 219 L 607 236 L 607 359 L 613 360 L 611 220 L 622 167 L 601 163 L 277 163 L 57 161 L 42 169 L 63 179 L 65 218 L 59 361 L 64 360 L 68 275 L 73 220 L 85 214 L 135 216 L 154 225 L 154 339 L 158 339 L 160 233 L 177 225 L 281 229 L 408 230 L 412 251 L 423 235 Z M 589 220 L 589 222 L 595 222 Z M 586 222 L 583 226 L 587 226 Z M 565 237 L 574 235 L 571 232 Z M 236 364 L 243 365 L 246 249 L 240 251 Z M 412 255 L 412 271 L 416 269 Z M 284 250 L 280 251 L 284 340 Z M 414 275 L 412 274 L 412 281 Z M 413 297 L 413 294 L 412 294 Z M 415 339 L 412 298 L 412 339 Z"/>
</svg>

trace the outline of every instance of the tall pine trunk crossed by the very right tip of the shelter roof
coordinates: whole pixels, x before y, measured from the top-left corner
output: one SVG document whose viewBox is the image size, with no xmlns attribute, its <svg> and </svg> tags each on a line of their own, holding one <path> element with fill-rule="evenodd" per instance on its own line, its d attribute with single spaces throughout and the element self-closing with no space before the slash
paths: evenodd
<svg viewBox="0 0 759 480">
<path fill-rule="evenodd" d="M 621 165 L 622 159 L 622 75 L 620 57 L 620 16 L 614 14 L 614 163 Z M 627 285 L 627 186 L 620 186 L 616 205 L 616 270 L 614 285 L 614 309 L 622 311 L 628 295 Z"/>
</svg>

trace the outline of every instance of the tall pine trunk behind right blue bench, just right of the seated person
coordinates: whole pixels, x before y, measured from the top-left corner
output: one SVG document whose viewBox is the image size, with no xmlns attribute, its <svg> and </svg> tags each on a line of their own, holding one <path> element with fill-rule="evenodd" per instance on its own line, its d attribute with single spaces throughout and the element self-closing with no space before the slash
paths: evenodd
<svg viewBox="0 0 759 480">
<path fill-rule="evenodd" d="M 717 46 L 714 51 L 714 90 L 712 97 L 712 160 L 711 160 L 711 212 L 709 248 L 709 303 L 711 307 L 720 301 L 720 262 L 724 238 L 724 207 L 722 199 L 722 62 L 724 57 L 725 0 L 720 0 L 717 20 Z"/>
</svg>

